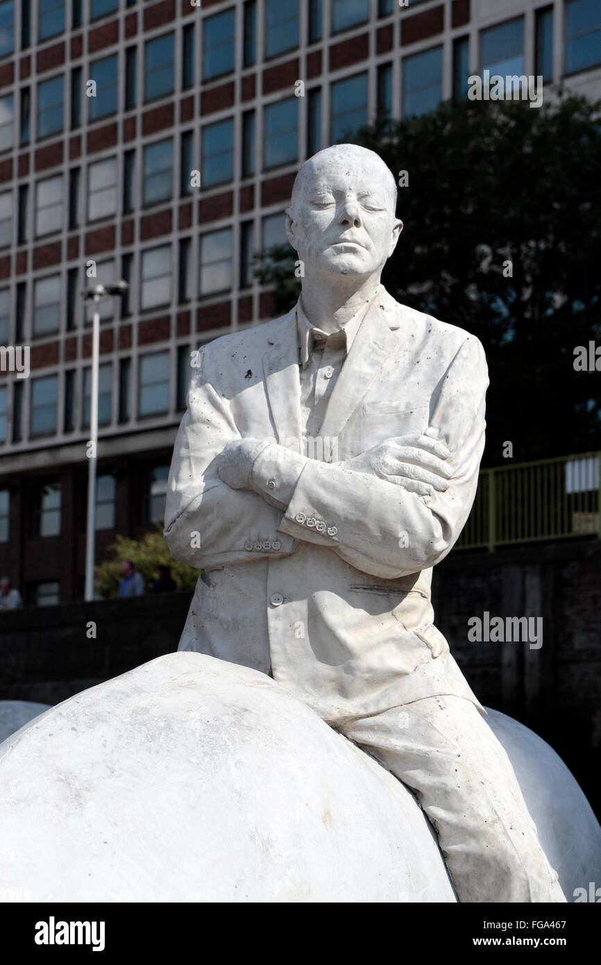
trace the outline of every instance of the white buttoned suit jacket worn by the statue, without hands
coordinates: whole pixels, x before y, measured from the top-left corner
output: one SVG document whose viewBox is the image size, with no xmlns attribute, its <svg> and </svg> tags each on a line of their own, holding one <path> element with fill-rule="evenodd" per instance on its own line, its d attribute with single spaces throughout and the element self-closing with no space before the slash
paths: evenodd
<svg viewBox="0 0 601 965">
<path fill-rule="evenodd" d="M 292 309 L 205 345 L 193 370 L 165 538 L 175 559 L 204 571 L 179 649 L 271 674 L 332 722 L 445 694 L 483 714 L 430 603 L 432 566 L 459 536 L 478 485 L 482 346 L 382 289 L 332 391 L 323 455 L 303 460 L 282 510 L 223 483 L 216 457 L 248 436 L 288 449 L 300 439 L 297 338 Z M 340 465 L 427 427 L 451 450 L 445 492 L 419 496 Z"/>
</svg>

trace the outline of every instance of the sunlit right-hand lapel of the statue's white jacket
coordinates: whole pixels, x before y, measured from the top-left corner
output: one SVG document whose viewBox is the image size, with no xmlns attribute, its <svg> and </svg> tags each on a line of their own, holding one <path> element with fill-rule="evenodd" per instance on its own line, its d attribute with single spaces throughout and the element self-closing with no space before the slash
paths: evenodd
<svg viewBox="0 0 601 965">
<path fill-rule="evenodd" d="M 384 291 L 369 306 L 344 360 L 321 427 L 320 434 L 324 439 L 341 434 L 378 372 L 393 354 L 396 338 L 389 325 L 392 317 L 396 317 L 396 303 Z"/>
</svg>

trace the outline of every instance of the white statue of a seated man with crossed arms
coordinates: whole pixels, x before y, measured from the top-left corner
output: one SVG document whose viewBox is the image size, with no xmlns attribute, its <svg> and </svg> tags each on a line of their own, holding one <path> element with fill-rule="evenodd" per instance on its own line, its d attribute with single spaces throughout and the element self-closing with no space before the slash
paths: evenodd
<svg viewBox="0 0 601 965">
<path fill-rule="evenodd" d="M 286 220 L 295 307 L 195 353 L 166 511 L 203 567 L 179 649 L 273 676 L 411 787 L 460 901 L 564 901 L 430 603 L 478 485 L 482 346 L 380 284 L 402 223 L 377 154 L 315 154 Z"/>
</svg>

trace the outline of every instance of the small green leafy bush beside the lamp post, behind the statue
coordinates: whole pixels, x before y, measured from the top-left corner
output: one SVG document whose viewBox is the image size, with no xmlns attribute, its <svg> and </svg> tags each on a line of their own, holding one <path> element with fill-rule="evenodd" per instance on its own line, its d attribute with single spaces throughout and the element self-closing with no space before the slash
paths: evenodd
<svg viewBox="0 0 601 965">
<path fill-rule="evenodd" d="M 147 590 L 156 579 L 156 567 L 159 564 L 171 568 L 171 575 L 178 590 L 193 590 L 201 573 L 200 569 L 177 563 L 173 559 L 160 527 L 157 527 L 154 533 L 147 533 L 142 539 L 118 536 L 109 548 L 113 558 L 96 566 L 96 587 L 105 597 L 117 596 L 123 576 L 123 559 L 133 560 L 136 569 L 144 577 Z"/>
</svg>

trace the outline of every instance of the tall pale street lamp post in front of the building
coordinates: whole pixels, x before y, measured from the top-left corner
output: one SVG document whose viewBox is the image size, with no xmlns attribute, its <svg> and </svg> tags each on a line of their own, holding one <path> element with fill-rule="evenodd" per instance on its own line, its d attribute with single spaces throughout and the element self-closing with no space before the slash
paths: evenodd
<svg viewBox="0 0 601 965">
<path fill-rule="evenodd" d="M 92 321 L 92 385 L 90 388 L 90 442 L 86 455 L 90 460 L 88 472 L 88 525 L 86 531 L 86 601 L 94 599 L 94 557 L 96 550 L 96 449 L 98 445 L 98 355 L 100 353 L 100 315 L 96 308 L 100 298 L 123 295 L 129 288 L 127 282 L 117 285 L 93 285 L 81 293 L 84 305 L 95 304 Z"/>
</svg>

